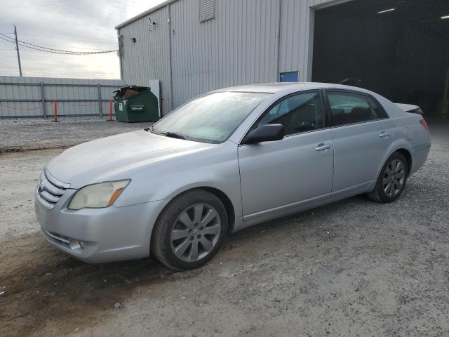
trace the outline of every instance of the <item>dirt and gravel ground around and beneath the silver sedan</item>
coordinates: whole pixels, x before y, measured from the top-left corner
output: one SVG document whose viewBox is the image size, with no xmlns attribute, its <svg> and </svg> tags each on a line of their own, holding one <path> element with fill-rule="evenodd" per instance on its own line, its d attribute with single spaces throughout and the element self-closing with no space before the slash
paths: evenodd
<svg viewBox="0 0 449 337">
<path fill-rule="evenodd" d="M 431 129 L 394 204 L 358 196 L 250 227 L 189 272 L 54 249 L 32 193 L 62 149 L 0 153 L 0 336 L 449 336 L 449 127 Z"/>
</svg>

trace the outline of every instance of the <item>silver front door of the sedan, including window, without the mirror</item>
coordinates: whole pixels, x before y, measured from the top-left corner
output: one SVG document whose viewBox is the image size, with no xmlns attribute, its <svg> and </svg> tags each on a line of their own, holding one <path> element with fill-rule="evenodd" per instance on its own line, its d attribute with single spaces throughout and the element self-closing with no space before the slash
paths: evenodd
<svg viewBox="0 0 449 337">
<path fill-rule="evenodd" d="M 286 136 L 239 146 L 243 218 L 330 197 L 333 147 L 319 91 L 288 95 L 253 128 L 262 124 L 283 124 Z"/>
</svg>

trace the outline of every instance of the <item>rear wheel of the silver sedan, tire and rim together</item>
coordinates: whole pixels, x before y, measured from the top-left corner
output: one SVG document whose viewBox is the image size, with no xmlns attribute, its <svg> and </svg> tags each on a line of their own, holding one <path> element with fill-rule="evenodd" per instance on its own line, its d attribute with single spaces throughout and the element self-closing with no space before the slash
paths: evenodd
<svg viewBox="0 0 449 337">
<path fill-rule="evenodd" d="M 382 167 L 375 188 L 368 193 L 368 197 L 382 204 L 396 201 L 406 187 L 407 178 L 406 158 L 401 153 L 394 152 Z"/>
</svg>

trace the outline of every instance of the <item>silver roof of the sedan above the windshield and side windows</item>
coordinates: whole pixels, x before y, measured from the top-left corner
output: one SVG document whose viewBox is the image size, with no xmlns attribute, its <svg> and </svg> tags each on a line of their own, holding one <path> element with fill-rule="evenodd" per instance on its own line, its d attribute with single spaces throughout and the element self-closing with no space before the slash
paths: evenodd
<svg viewBox="0 0 449 337">
<path fill-rule="evenodd" d="M 356 90 L 366 92 L 363 88 L 358 88 L 355 86 L 344 86 L 342 84 L 331 84 L 331 83 L 319 83 L 319 82 L 275 82 L 275 83 L 261 83 L 261 84 L 250 84 L 246 86 L 231 86 L 229 88 L 222 88 L 217 91 L 236 91 L 244 93 L 277 93 L 278 91 L 284 89 L 290 90 L 309 90 L 317 88 L 335 88 L 335 89 L 346 89 L 346 90 Z"/>
</svg>

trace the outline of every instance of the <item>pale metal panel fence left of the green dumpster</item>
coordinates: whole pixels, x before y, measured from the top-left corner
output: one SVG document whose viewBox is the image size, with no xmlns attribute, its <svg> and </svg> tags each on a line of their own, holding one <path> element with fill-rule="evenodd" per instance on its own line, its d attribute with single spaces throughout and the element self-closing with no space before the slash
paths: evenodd
<svg viewBox="0 0 449 337">
<path fill-rule="evenodd" d="M 0 119 L 48 117 L 54 101 L 58 116 L 106 116 L 120 79 L 56 79 L 0 76 Z"/>
</svg>

